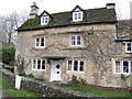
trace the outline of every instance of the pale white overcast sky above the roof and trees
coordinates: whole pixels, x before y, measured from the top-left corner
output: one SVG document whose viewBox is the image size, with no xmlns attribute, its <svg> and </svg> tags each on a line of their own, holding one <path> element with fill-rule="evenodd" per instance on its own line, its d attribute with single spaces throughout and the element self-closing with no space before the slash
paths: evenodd
<svg viewBox="0 0 132 99">
<path fill-rule="evenodd" d="M 40 8 L 38 14 L 44 10 L 48 13 L 72 11 L 77 4 L 82 9 L 94 9 L 106 7 L 107 3 L 116 3 L 118 18 L 130 19 L 131 1 L 132 0 L 1 0 L 0 14 L 7 15 L 12 11 L 30 11 L 33 2 L 36 2 Z"/>
</svg>

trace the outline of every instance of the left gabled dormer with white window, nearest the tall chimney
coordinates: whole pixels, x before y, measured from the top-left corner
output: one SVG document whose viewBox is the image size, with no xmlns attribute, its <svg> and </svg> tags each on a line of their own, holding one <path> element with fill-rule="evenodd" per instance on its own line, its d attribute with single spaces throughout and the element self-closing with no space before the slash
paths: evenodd
<svg viewBox="0 0 132 99">
<path fill-rule="evenodd" d="M 50 19 L 51 19 L 50 13 L 46 12 L 46 11 L 44 11 L 44 12 L 41 14 L 41 25 L 46 25 L 46 24 L 48 24 Z"/>
</svg>

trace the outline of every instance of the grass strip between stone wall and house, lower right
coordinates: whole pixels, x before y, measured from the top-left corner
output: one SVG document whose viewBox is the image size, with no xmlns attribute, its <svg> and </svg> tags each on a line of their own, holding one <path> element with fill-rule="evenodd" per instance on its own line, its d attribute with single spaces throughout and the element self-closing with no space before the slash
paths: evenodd
<svg viewBox="0 0 132 99">
<path fill-rule="evenodd" d="M 75 88 L 75 87 L 67 87 L 67 89 L 79 91 L 82 94 L 95 95 L 98 97 L 130 97 L 130 92 L 123 91 L 108 91 L 95 88 Z"/>
</svg>

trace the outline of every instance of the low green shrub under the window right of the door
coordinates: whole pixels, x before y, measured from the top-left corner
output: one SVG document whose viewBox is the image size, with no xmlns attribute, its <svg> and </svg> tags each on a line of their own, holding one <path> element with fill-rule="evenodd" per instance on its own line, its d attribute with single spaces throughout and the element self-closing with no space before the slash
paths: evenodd
<svg viewBox="0 0 132 99">
<path fill-rule="evenodd" d="M 77 79 L 77 77 L 74 76 L 74 75 L 73 75 L 72 80 L 68 81 L 68 84 L 79 85 L 79 86 L 86 86 L 86 85 L 87 85 L 86 80 L 84 80 L 84 79 L 81 79 L 81 78 Z"/>
</svg>

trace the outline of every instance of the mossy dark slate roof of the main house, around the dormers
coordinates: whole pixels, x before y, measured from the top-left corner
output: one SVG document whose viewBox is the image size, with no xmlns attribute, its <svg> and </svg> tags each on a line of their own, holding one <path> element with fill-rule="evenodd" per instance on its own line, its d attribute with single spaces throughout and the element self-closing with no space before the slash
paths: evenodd
<svg viewBox="0 0 132 99">
<path fill-rule="evenodd" d="M 94 23 L 114 23 L 117 22 L 117 14 L 114 9 L 99 8 L 84 10 L 85 16 L 82 21 L 73 22 L 73 14 L 70 11 L 53 13 L 52 19 L 47 25 L 41 25 L 41 15 L 34 19 L 28 19 L 18 31 L 37 30 L 45 28 L 67 26 L 67 25 L 80 25 L 80 24 L 94 24 Z"/>
</svg>

